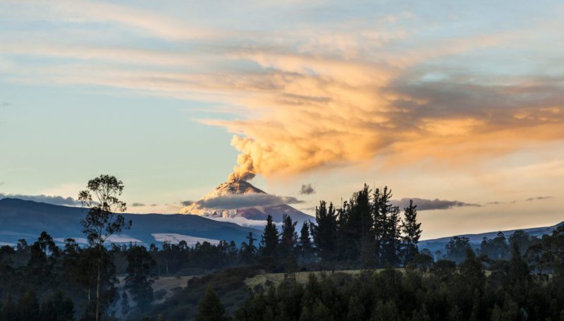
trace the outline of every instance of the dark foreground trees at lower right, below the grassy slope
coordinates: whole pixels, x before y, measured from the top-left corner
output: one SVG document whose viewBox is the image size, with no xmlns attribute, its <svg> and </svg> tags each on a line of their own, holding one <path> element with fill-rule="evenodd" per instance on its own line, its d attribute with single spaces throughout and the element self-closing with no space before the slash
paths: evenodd
<svg viewBox="0 0 564 321">
<path fill-rule="evenodd" d="M 482 243 L 486 251 L 500 245 L 491 257 L 466 247 L 459 265 L 431 259 L 355 276 L 311 273 L 305 284 L 288 274 L 251 291 L 233 320 L 564 320 L 564 226 L 541 239 L 521 231 L 508 247 L 500 238 Z M 197 320 L 227 319 L 209 289 Z"/>
</svg>

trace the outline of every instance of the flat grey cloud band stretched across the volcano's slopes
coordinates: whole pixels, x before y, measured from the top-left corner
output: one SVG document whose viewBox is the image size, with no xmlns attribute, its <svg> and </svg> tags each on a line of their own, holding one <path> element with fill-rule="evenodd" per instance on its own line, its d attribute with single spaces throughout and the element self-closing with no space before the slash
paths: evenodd
<svg viewBox="0 0 564 321">
<path fill-rule="evenodd" d="M 199 200 L 196 203 L 204 208 L 235 210 L 243 207 L 299 204 L 302 202 L 302 200 L 298 200 L 298 198 L 291 196 L 250 193 L 208 198 L 205 200 Z"/>
</svg>

